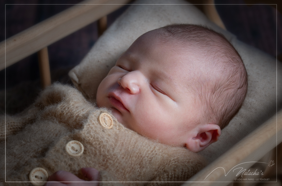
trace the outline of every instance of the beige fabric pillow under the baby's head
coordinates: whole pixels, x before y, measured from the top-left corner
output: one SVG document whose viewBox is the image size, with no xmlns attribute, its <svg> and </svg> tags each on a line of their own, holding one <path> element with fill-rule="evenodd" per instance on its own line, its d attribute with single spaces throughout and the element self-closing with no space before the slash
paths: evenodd
<svg viewBox="0 0 282 186">
<path fill-rule="evenodd" d="M 216 26 L 187 1 L 135 1 L 105 31 L 82 62 L 69 72 L 69 76 L 86 97 L 94 100 L 99 83 L 136 38 L 150 30 L 175 23 L 204 25 L 222 33 L 241 55 L 248 73 L 248 93 L 241 110 L 223 129 L 220 140 L 200 152 L 211 162 L 275 114 L 276 70 L 279 85 L 282 83 L 282 67 L 278 62 L 276 68 L 276 59 L 238 41 L 236 36 Z M 280 108 L 281 87 L 278 87 L 277 94 Z"/>
</svg>

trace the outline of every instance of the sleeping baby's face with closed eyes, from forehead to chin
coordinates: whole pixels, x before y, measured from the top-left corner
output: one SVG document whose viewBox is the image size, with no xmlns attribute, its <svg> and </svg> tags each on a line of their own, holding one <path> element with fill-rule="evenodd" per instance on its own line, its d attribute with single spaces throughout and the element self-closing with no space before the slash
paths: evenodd
<svg viewBox="0 0 282 186">
<path fill-rule="evenodd" d="M 97 105 L 113 109 L 117 120 L 164 144 L 186 146 L 199 107 L 189 91 L 191 66 L 181 51 L 172 51 L 153 32 L 138 38 L 117 60 L 98 87 Z M 195 57 L 196 58 L 196 57 Z"/>
</svg>

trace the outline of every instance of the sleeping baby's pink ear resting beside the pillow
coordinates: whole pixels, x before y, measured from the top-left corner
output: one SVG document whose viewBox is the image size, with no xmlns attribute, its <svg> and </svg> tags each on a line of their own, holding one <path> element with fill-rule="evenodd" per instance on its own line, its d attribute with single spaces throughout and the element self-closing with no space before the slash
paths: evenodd
<svg viewBox="0 0 282 186">
<path fill-rule="evenodd" d="M 193 152 L 199 152 L 213 142 L 216 142 L 221 134 L 221 130 L 217 124 L 203 124 L 196 126 L 190 134 L 186 148 Z"/>
</svg>

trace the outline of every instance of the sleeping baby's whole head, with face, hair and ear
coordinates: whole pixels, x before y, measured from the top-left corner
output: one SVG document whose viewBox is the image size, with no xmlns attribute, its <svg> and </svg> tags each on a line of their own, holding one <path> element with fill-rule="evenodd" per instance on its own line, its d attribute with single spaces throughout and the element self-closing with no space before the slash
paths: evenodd
<svg viewBox="0 0 282 186">
<path fill-rule="evenodd" d="M 242 59 L 223 36 L 169 25 L 120 56 L 98 87 L 97 105 L 143 136 L 198 152 L 218 140 L 246 91 Z"/>
</svg>

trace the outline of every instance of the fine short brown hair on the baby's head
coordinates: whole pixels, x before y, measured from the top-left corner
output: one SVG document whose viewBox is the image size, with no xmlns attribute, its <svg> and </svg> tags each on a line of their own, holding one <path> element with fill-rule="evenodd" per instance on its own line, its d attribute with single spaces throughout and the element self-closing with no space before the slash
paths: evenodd
<svg viewBox="0 0 282 186">
<path fill-rule="evenodd" d="M 165 43 L 201 50 L 203 71 L 193 75 L 199 83 L 189 86 L 201 101 L 203 118 L 223 129 L 239 111 L 247 93 L 247 72 L 240 55 L 222 34 L 203 26 L 172 24 L 158 30 L 158 37 Z"/>
</svg>

